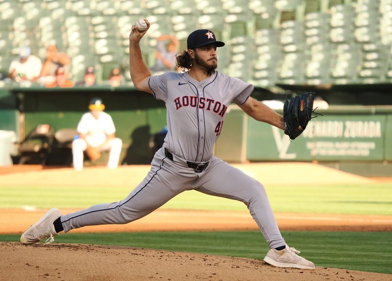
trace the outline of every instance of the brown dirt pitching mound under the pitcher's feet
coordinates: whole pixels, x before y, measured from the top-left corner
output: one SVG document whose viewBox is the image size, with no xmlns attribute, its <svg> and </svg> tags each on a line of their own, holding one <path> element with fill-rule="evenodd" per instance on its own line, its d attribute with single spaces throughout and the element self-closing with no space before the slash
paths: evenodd
<svg viewBox="0 0 392 281">
<path fill-rule="evenodd" d="M 391 280 L 388 274 L 282 269 L 249 258 L 83 244 L 0 242 L 0 259 L 0 280 Z"/>
</svg>

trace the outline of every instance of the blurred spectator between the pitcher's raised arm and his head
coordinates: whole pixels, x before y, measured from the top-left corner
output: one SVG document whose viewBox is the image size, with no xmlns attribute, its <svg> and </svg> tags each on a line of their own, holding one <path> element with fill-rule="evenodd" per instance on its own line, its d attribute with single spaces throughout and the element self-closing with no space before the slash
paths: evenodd
<svg viewBox="0 0 392 281">
<path fill-rule="evenodd" d="M 169 42 L 164 45 L 164 41 Z M 155 65 L 151 68 L 152 72 L 168 71 L 176 69 L 175 54 L 179 42 L 173 35 L 161 35 L 157 38 L 157 51 L 155 53 Z"/>
</svg>

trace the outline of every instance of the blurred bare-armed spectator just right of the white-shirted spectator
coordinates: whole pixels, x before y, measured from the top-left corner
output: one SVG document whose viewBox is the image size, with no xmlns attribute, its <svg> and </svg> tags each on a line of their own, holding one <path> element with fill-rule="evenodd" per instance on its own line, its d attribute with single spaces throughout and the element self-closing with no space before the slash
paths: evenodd
<svg viewBox="0 0 392 281">
<path fill-rule="evenodd" d="M 66 53 L 59 52 L 55 45 L 49 45 L 46 51 L 46 60 L 42 65 L 41 77 L 49 77 L 49 79 L 46 79 L 44 83 L 47 80 L 53 80 L 52 77 L 56 76 L 56 71 L 60 66 L 63 66 L 68 73 L 71 63 L 71 58 Z"/>
</svg>

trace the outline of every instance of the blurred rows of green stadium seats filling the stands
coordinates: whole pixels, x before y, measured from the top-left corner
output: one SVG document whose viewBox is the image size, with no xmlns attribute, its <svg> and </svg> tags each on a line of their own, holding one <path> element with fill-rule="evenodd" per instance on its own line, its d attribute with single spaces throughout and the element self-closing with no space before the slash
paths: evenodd
<svg viewBox="0 0 392 281">
<path fill-rule="evenodd" d="M 44 58 L 55 43 L 75 80 L 88 64 L 101 80 L 127 65 L 130 26 L 147 18 L 149 66 L 158 36 L 185 49 L 190 32 L 208 28 L 228 43 L 218 70 L 255 85 L 392 82 L 392 0 L 0 0 L 0 17 L 1 58 L 21 45 Z"/>
</svg>

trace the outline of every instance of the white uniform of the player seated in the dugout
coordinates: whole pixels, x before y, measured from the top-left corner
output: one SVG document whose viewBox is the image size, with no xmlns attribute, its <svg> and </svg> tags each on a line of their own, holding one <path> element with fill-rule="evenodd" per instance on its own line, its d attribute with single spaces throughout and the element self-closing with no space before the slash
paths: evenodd
<svg viewBox="0 0 392 281">
<path fill-rule="evenodd" d="M 106 140 L 106 135 L 115 133 L 116 128 L 112 117 L 106 112 L 102 111 L 98 119 L 95 119 L 91 112 L 87 112 L 83 114 L 77 125 L 77 131 L 86 134 L 86 141 L 78 138 L 72 142 L 73 168 L 80 171 L 83 169 L 83 151 L 87 149 L 87 146 L 97 147 L 102 145 Z M 123 142 L 120 138 L 113 138 L 102 147 L 102 151 L 110 151 L 108 168 L 117 168 L 122 147 Z"/>
</svg>

